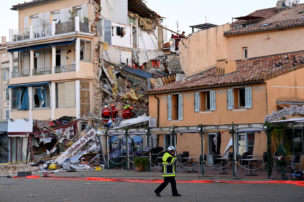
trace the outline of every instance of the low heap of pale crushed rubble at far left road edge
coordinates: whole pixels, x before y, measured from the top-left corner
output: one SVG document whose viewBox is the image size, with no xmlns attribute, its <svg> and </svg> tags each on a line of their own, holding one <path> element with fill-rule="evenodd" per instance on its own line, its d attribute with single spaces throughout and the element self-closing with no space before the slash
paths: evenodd
<svg viewBox="0 0 304 202">
<path fill-rule="evenodd" d="M 37 167 L 32 167 L 29 164 L 1 164 L 0 165 L 0 175 L 5 174 L 15 174 L 18 172 L 35 172 L 37 171 Z"/>
</svg>

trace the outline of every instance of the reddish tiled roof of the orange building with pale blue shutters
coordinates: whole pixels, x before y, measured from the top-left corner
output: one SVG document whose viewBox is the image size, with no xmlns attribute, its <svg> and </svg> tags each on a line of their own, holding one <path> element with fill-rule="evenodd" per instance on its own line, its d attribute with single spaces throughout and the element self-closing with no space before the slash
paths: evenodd
<svg viewBox="0 0 304 202">
<path fill-rule="evenodd" d="M 288 56 L 289 59 L 285 59 L 285 55 Z M 293 61 L 292 56 L 295 56 L 295 60 L 297 61 L 296 63 Z M 151 89 L 147 92 L 173 91 L 222 84 L 237 84 L 241 82 L 247 83 L 268 80 L 304 67 L 304 64 L 301 64 L 300 60 L 304 61 L 304 50 L 294 53 L 241 60 L 236 63 L 237 72 L 235 71 L 230 74 L 216 76 L 216 67 L 214 67 L 192 77 Z M 282 65 L 279 65 L 279 62 L 282 63 Z M 279 66 L 277 67 L 275 63 Z M 292 63 L 294 63 L 295 66 L 293 66 Z"/>
</svg>

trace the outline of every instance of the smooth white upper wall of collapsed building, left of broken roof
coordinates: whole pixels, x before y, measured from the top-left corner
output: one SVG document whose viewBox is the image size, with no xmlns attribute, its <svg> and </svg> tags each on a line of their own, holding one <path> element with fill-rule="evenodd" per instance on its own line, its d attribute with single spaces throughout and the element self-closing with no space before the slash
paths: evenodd
<svg viewBox="0 0 304 202">
<path fill-rule="evenodd" d="M 113 8 L 109 4 L 112 4 Z M 101 15 L 107 20 L 128 23 L 128 1 L 127 0 L 101 0 Z"/>
</svg>

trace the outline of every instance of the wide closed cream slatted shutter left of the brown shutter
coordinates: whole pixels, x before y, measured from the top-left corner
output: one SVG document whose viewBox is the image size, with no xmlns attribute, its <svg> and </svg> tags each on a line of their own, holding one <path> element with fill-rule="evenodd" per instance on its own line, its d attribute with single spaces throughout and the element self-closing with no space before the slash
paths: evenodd
<svg viewBox="0 0 304 202">
<path fill-rule="evenodd" d="M 75 107 L 75 81 L 57 84 L 57 108 Z"/>
</svg>

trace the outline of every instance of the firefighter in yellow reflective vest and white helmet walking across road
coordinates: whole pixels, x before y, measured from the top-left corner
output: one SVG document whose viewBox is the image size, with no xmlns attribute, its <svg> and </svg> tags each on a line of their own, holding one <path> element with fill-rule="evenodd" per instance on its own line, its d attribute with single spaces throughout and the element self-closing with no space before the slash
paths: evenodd
<svg viewBox="0 0 304 202">
<path fill-rule="evenodd" d="M 176 149 L 174 146 L 169 146 L 167 149 L 167 152 L 164 153 L 163 156 L 163 168 L 162 168 L 162 173 L 164 177 L 164 182 L 161 183 L 159 187 L 154 190 L 154 193 L 156 193 L 157 196 L 161 196 L 161 191 L 169 184 L 171 183 L 171 189 L 172 189 L 172 196 L 174 197 L 180 197 L 181 194 L 177 192 L 176 189 L 176 181 L 175 181 L 175 172 L 176 172 L 176 163 L 177 163 L 177 158 L 174 156 L 174 151 Z"/>
</svg>

